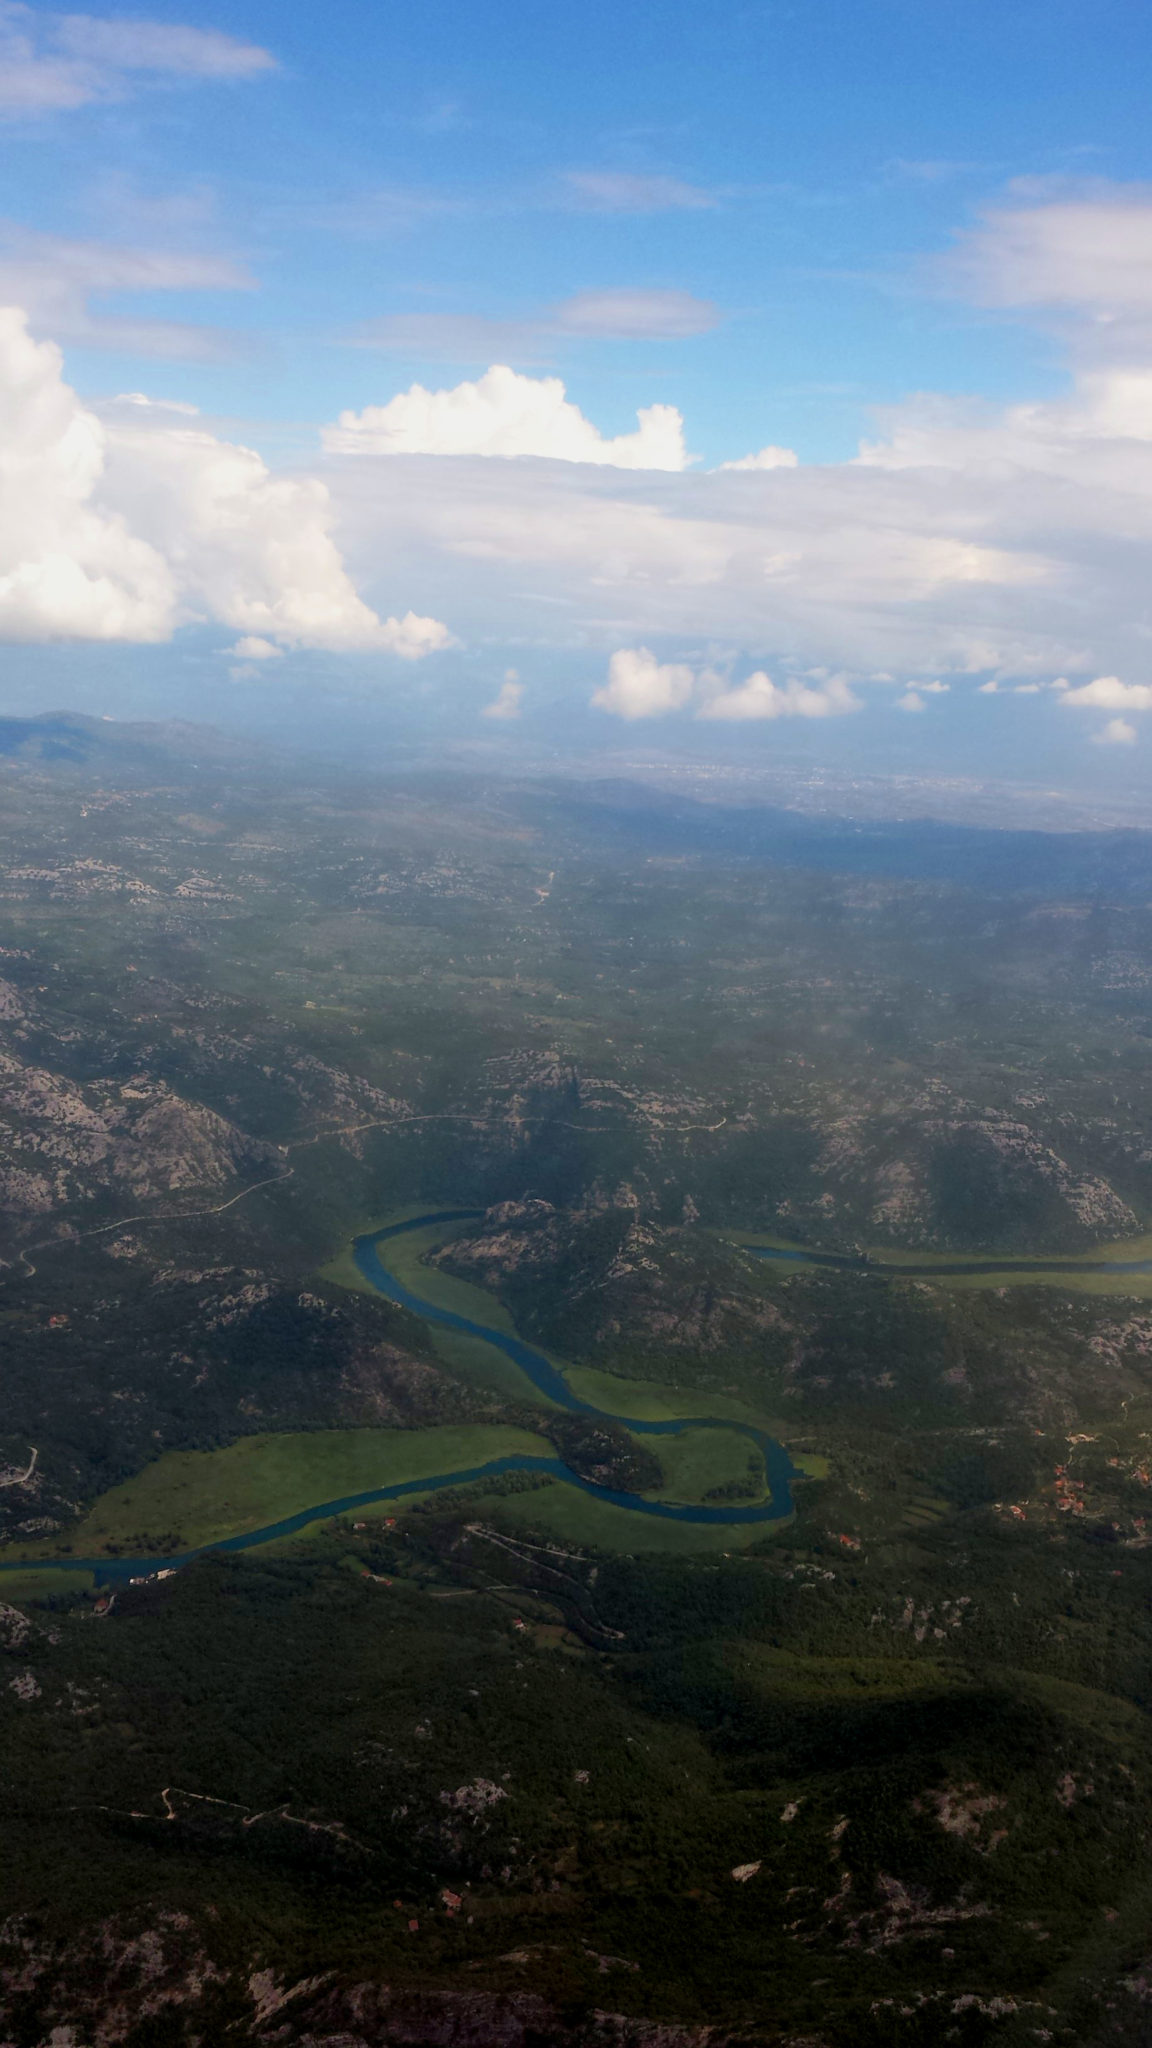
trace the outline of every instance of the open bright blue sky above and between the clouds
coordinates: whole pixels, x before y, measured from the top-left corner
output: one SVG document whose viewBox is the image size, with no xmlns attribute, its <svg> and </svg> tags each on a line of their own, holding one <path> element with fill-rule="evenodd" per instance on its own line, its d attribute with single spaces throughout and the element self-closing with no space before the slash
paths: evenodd
<svg viewBox="0 0 1152 2048">
<path fill-rule="evenodd" d="M 756 436 L 849 455 L 869 406 L 908 389 L 1054 387 L 1043 336 L 949 301 L 922 266 L 1013 178 L 1148 168 L 1132 78 L 1152 16 L 1132 4 L 150 12 L 277 70 L 10 125 L 6 213 L 232 256 L 254 289 L 119 303 L 236 338 L 211 369 L 150 369 L 150 389 L 277 426 L 488 367 L 435 342 L 348 346 L 381 317 L 531 322 L 648 287 L 711 301 L 717 326 L 541 344 L 605 428 L 668 397 L 711 461 Z M 139 375 L 131 352 L 68 362 L 94 389 Z"/>
</svg>

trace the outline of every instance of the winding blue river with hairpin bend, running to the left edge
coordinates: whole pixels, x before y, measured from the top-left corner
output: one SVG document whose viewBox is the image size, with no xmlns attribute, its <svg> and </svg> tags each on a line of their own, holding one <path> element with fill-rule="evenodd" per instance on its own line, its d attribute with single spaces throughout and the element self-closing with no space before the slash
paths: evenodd
<svg viewBox="0 0 1152 2048">
<path fill-rule="evenodd" d="M 512 1452 L 504 1458 L 492 1458 L 488 1464 L 474 1464 L 457 1473 L 437 1473 L 428 1479 L 402 1479 L 389 1487 L 371 1487 L 367 1493 L 348 1493 L 338 1501 L 320 1501 L 316 1507 L 303 1507 L 297 1516 L 285 1516 L 281 1522 L 269 1522 L 264 1528 L 246 1530 L 242 1536 L 225 1536 L 221 1542 L 201 1544 L 195 1550 L 180 1550 L 172 1556 L 53 1556 L 35 1559 L 20 1563 L 12 1559 L 0 1563 L 0 1573 L 4 1571 L 90 1571 L 96 1585 L 105 1583 L 125 1583 L 127 1579 L 150 1577 L 156 1571 L 174 1571 L 180 1565 L 191 1565 L 193 1559 L 205 1556 L 209 1550 L 254 1550 L 258 1544 L 275 1542 L 279 1536 L 295 1536 L 297 1530 L 307 1528 L 310 1522 L 326 1522 L 330 1516 L 346 1516 L 357 1507 L 373 1507 L 377 1501 L 400 1501 L 410 1493 L 437 1493 L 443 1487 L 467 1487 L 478 1479 L 494 1479 L 500 1473 L 547 1473 L 551 1479 L 562 1479 L 568 1487 L 578 1487 L 580 1493 L 592 1493 L 601 1501 L 609 1501 L 613 1507 L 625 1507 L 635 1516 L 654 1516 L 660 1522 L 695 1522 L 707 1528 L 717 1524 L 740 1528 L 754 1522 L 781 1522 L 791 1516 L 791 1481 L 799 1479 L 783 1444 L 777 1444 L 773 1436 L 756 1430 L 752 1423 L 726 1421 L 715 1415 L 697 1415 L 691 1419 L 676 1421 L 640 1421 L 633 1415 L 611 1415 L 607 1409 L 594 1407 L 590 1401 L 580 1401 L 572 1391 L 562 1372 L 543 1356 L 543 1352 L 533 1350 L 531 1343 L 523 1343 L 521 1337 L 508 1337 L 500 1329 L 490 1329 L 488 1323 L 476 1323 L 467 1315 L 455 1315 L 453 1309 L 439 1309 L 437 1303 L 424 1300 L 414 1294 L 412 1288 L 387 1270 L 379 1255 L 379 1245 L 389 1237 L 402 1237 L 408 1231 L 422 1231 L 435 1223 L 461 1223 L 467 1217 L 476 1217 L 474 1208 L 439 1208 L 426 1217 L 412 1217 L 408 1223 L 394 1223 L 387 1231 L 375 1231 L 369 1237 L 357 1237 L 353 1253 L 357 1266 L 365 1280 L 385 1294 L 389 1300 L 398 1303 L 402 1309 L 412 1309 L 426 1323 L 439 1323 L 443 1329 L 461 1329 L 471 1337 L 482 1337 L 486 1343 L 496 1346 L 521 1368 L 525 1378 L 531 1380 L 539 1393 L 556 1401 L 558 1407 L 572 1409 L 578 1415 L 594 1415 L 601 1421 L 619 1421 L 633 1430 L 637 1436 L 681 1436 L 685 1430 L 730 1430 L 736 1436 L 746 1436 L 750 1444 L 756 1444 L 765 1460 L 765 1473 L 771 1487 L 771 1499 L 760 1501 L 754 1507 L 676 1507 L 672 1501 L 648 1501 L 640 1493 L 623 1493 L 617 1487 L 596 1487 L 590 1479 L 582 1479 L 574 1473 L 562 1458 L 535 1458 L 529 1452 Z"/>
</svg>

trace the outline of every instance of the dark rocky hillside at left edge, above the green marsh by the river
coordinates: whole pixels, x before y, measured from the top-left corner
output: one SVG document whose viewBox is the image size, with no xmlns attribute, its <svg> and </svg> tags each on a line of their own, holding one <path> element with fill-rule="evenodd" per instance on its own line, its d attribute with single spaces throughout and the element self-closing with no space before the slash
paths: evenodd
<svg viewBox="0 0 1152 2048">
<path fill-rule="evenodd" d="M 385 1303 L 256 1266 L 166 1264 L 156 1249 L 119 1233 L 8 1288 L 0 1546 L 68 1530 L 164 1450 L 266 1430 L 414 1427 L 478 1407 L 422 1327 Z"/>
</svg>

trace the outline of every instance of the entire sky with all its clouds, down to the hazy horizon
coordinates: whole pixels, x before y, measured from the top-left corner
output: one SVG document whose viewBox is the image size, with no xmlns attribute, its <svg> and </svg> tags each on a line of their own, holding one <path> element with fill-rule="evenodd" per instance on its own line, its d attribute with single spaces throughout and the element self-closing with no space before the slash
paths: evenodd
<svg viewBox="0 0 1152 2048">
<path fill-rule="evenodd" d="M 0 0 L 0 707 L 1140 788 L 1152 10 Z"/>
</svg>

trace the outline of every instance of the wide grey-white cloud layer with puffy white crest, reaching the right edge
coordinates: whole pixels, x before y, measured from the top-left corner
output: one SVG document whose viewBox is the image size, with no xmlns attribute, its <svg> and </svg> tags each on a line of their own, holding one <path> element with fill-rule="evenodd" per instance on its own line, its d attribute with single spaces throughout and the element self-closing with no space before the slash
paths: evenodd
<svg viewBox="0 0 1152 2048">
<path fill-rule="evenodd" d="M 898 690 L 1142 672 L 1152 354 L 1080 362 L 1039 403 L 912 397 L 847 463 L 685 471 L 668 424 L 668 453 L 633 444 L 627 463 L 650 467 L 629 473 L 556 379 L 504 371 L 351 414 L 330 446 L 363 459 L 328 471 L 351 559 L 406 551 L 451 580 L 471 635 L 515 616 L 547 641 L 564 621 L 607 649 L 707 641 L 769 674 L 820 664 Z M 564 461 L 469 453 L 529 449 Z"/>
</svg>

